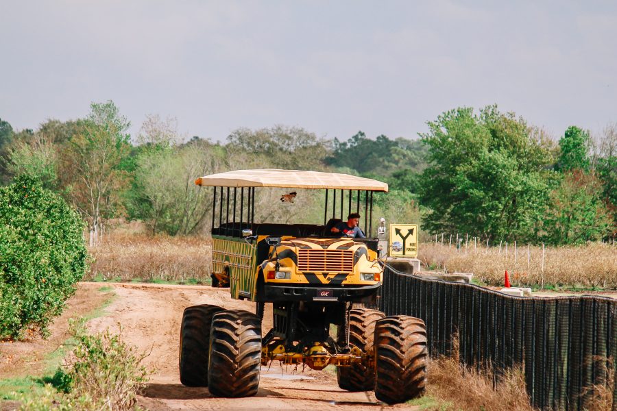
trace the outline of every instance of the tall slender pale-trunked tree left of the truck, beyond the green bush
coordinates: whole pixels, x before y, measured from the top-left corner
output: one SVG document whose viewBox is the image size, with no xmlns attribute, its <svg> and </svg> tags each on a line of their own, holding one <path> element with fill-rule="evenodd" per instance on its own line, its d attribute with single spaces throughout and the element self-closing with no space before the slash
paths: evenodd
<svg viewBox="0 0 617 411">
<path fill-rule="evenodd" d="M 130 153 L 130 136 L 125 134 L 129 125 L 112 101 L 92 103 L 84 128 L 62 151 L 60 180 L 88 222 L 93 245 L 104 221 L 122 209 L 128 182 L 122 165 Z"/>
</svg>

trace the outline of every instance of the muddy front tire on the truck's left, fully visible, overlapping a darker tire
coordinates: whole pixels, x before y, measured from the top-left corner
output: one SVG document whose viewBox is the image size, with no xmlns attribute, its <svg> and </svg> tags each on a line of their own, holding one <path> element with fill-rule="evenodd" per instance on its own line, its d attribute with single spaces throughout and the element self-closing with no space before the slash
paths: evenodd
<svg viewBox="0 0 617 411">
<path fill-rule="evenodd" d="M 216 314 L 210 327 L 208 389 L 217 397 L 251 397 L 261 368 L 261 318 L 244 310 Z"/>
</svg>

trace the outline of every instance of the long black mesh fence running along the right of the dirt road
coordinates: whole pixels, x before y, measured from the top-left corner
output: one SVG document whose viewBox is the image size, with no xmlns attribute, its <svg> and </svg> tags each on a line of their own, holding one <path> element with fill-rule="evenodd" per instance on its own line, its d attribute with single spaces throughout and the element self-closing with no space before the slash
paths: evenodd
<svg viewBox="0 0 617 411">
<path fill-rule="evenodd" d="M 585 410 L 617 354 L 617 300 L 510 297 L 472 284 L 424 279 L 386 266 L 378 308 L 426 323 L 432 356 L 459 339 L 461 362 L 500 371 L 524 366 L 531 403 Z M 614 376 L 617 377 L 617 371 Z M 617 388 L 617 384 L 616 388 Z M 617 410 L 614 390 L 613 410 Z"/>
</svg>

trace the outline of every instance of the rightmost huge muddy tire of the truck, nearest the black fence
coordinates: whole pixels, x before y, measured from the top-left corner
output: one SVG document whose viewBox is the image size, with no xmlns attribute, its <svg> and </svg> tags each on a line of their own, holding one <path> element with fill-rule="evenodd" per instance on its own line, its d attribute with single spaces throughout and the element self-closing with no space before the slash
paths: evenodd
<svg viewBox="0 0 617 411">
<path fill-rule="evenodd" d="M 388 404 L 422 397 L 426 390 L 426 327 L 406 315 L 375 324 L 375 397 Z"/>
</svg>

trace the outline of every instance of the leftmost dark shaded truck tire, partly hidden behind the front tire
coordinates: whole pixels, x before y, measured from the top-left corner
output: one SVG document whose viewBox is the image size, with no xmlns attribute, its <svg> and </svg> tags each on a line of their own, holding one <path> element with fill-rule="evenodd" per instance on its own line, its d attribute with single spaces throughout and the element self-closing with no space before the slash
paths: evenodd
<svg viewBox="0 0 617 411">
<path fill-rule="evenodd" d="M 207 304 L 184 309 L 180 326 L 180 382 L 185 386 L 208 386 L 210 323 L 220 311 L 223 308 Z"/>
</svg>

